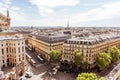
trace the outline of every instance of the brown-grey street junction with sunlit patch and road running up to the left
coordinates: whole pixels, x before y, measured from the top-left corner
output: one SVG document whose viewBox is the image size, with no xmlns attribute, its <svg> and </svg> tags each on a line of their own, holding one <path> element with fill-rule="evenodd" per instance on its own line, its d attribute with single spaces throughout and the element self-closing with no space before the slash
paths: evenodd
<svg viewBox="0 0 120 80">
<path fill-rule="evenodd" d="M 75 80 L 76 75 L 73 73 L 57 71 L 56 74 L 50 76 L 49 73 L 52 71 L 51 64 L 49 62 L 45 62 L 44 64 L 40 63 L 34 52 L 27 51 L 27 53 L 37 62 L 36 65 L 39 65 L 35 67 L 27 62 L 29 71 L 32 73 L 32 77 L 27 78 L 27 80 Z"/>
</svg>

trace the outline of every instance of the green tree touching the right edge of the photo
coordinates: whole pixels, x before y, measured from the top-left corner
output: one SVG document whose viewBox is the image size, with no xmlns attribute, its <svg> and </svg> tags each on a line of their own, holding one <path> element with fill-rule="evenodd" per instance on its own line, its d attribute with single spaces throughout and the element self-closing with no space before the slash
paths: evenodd
<svg viewBox="0 0 120 80">
<path fill-rule="evenodd" d="M 110 47 L 108 49 L 108 53 L 110 54 L 110 56 L 112 58 L 112 62 L 119 60 L 120 50 L 117 47 L 115 47 L 115 46 Z"/>
</svg>

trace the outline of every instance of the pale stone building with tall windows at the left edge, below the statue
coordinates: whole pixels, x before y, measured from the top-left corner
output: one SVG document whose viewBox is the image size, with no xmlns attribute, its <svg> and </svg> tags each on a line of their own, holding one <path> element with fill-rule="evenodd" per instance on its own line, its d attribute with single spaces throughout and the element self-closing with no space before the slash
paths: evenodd
<svg viewBox="0 0 120 80">
<path fill-rule="evenodd" d="M 20 35 L 0 37 L 0 67 L 16 66 L 25 61 L 25 39 Z"/>
</svg>

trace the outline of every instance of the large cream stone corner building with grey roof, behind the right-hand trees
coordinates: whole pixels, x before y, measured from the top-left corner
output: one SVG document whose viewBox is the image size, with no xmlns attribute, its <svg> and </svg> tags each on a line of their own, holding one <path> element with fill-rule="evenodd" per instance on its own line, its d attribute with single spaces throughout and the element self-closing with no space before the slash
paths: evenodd
<svg viewBox="0 0 120 80">
<path fill-rule="evenodd" d="M 63 46 L 62 60 L 74 61 L 74 50 L 78 49 L 83 54 L 83 61 L 88 63 L 88 68 L 93 68 L 96 65 L 96 56 L 111 46 L 120 48 L 119 34 L 68 39 Z"/>
</svg>

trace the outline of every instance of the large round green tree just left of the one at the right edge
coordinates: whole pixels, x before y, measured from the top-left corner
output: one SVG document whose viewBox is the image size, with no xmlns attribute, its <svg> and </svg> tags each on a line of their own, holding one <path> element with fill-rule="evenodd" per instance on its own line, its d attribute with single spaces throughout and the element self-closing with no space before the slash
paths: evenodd
<svg viewBox="0 0 120 80">
<path fill-rule="evenodd" d="M 96 58 L 96 62 L 100 70 L 103 70 L 111 63 L 111 57 L 109 54 L 105 52 L 99 53 L 99 55 Z"/>
</svg>

